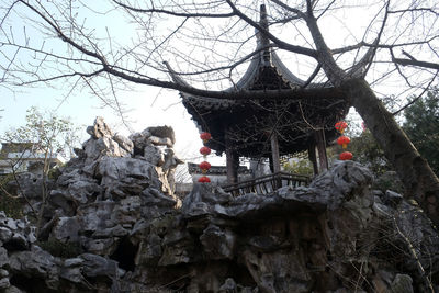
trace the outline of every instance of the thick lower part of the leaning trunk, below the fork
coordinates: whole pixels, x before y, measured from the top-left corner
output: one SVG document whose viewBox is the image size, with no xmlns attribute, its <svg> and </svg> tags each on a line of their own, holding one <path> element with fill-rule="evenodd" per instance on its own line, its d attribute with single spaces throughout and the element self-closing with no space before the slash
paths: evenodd
<svg viewBox="0 0 439 293">
<path fill-rule="evenodd" d="M 439 226 L 439 180 L 430 166 L 365 80 L 350 79 L 341 88 L 395 168 L 406 189 L 406 196 L 414 198 Z"/>
</svg>

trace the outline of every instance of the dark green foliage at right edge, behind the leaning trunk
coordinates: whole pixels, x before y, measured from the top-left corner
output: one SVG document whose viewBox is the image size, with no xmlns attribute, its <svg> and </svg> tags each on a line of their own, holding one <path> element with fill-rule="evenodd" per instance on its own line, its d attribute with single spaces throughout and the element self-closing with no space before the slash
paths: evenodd
<svg viewBox="0 0 439 293">
<path fill-rule="evenodd" d="M 439 89 L 416 100 L 405 110 L 404 116 L 405 133 L 439 176 Z"/>
</svg>

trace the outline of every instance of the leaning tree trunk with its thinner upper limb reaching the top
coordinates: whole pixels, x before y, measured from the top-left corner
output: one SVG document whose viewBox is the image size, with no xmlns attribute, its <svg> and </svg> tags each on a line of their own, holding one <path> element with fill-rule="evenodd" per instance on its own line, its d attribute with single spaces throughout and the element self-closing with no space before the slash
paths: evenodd
<svg viewBox="0 0 439 293">
<path fill-rule="evenodd" d="M 429 218 L 439 226 L 439 179 L 423 159 L 393 115 L 384 108 L 363 78 L 353 78 L 336 63 L 313 15 L 307 0 L 306 24 L 317 49 L 317 60 L 335 87 L 340 87 L 350 104 L 364 120 L 386 158 L 395 168 L 405 189 L 406 198 L 415 199 Z"/>
</svg>

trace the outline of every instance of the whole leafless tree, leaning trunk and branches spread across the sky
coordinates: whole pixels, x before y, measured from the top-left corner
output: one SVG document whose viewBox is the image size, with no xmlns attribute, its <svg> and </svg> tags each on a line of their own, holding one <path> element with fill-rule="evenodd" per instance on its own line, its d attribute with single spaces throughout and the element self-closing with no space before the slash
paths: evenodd
<svg viewBox="0 0 439 293">
<path fill-rule="evenodd" d="M 267 47 L 300 66 L 305 86 L 290 93 L 306 90 L 313 81 L 337 87 L 348 97 L 346 102 L 384 149 L 407 196 L 439 224 L 439 180 L 392 114 L 404 106 L 405 97 L 420 95 L 437 82 L 436 1 L 270 0 L 269 30 L 257 21 L 255 1 L 102 2 L 3 3 L 1 86 L 14 90 L 63 80 L 71 91 L 85 87 L 115 101 L 117 90 L 133 83 L 217 99 L 288 99 L 288 91 L 221 91 L 235 84 L 257 54 L 258 31 L 270 40 Z M 123 33 L 117 34 L 121 24 Z M 173 82 L 164 60 L 191 86 Z M 390 95 L 394 108 L 387 109 L 381 100 Z"/>
</svg>

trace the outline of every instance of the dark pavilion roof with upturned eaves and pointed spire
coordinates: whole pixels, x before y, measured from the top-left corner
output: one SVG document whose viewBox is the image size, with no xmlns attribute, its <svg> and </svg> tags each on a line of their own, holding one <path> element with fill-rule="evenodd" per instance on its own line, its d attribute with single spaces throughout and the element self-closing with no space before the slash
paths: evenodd
<svg viewBox="0 0 439 293">
<path fill-rule="evenodd" d="M 268 30 L 267 13 L 261 5 L 262 27 Z M 281 61 L 269 40 L 257 33 L 257 53 L 247 71 L 232 91 L 291 90 L 297 89 L 291 99 L 224 100 L 198 97 L 180 92 L 184 106 L 203 132 L 213 139 L 209 146 L 221 154 L 226 137 L 241 157 L 268 157 L 270 135 L 277 132 L 280 155 L 308 149 L 316 129 L 325 129 L 326 140 L 336 137 L 334 124 L 346 116 L 349 104 L 341 91 L 327 83 L 306 82 Z M 190 87 L 166 64 L 175 82 Z"/>
</svg>

